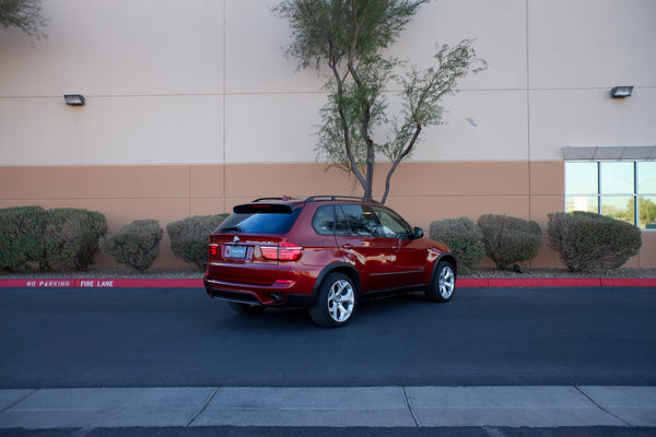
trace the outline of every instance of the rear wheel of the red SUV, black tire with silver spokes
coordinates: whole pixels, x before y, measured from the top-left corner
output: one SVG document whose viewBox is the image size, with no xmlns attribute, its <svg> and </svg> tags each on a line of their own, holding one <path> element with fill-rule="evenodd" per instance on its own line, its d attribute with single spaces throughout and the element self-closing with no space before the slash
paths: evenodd
<svg viewBox="0 0 656 437">
<path fill-rule="evenodd" d="M 317 300 L 309 307 L 309 318 L 320 327 L 347 324 L 355 311 L 358 292 L 353 281 L 343 273 L 330 273 L 318 288 Z"/>
</svg>

